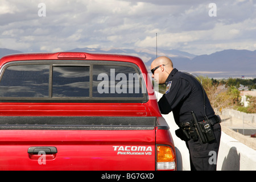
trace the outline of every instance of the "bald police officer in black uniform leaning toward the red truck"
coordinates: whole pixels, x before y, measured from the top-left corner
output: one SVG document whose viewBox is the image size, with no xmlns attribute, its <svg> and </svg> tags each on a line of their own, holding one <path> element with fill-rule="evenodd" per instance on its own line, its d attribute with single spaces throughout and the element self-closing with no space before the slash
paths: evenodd
<svg viewBox="0 0 256 182">
<path fill-rule="evenodd" d="M 155 82 L 167 86 L 166 93 L 158 101 L 159 109 L 162 114 L 173 112 L 175 122 L 180 127 L 175 133 L 177 137 L 185 140 L 191 170 L 216 171 L 221 138 L 220 118 L 215 115 L 203 86 L 193 76 L 173 68 L 172 61 L 165 56 L 152 62 L 151 72 Z M 199 123 L 205 124 L 205 121 L 209 121 L 205 128 L 213 131 L 213 140 L 202 142 L 199 131 L 192 124 L 195 123 L 192 112 Z M 188 126 L 187 130 L 182 128 L 184 125 Z"/>
</svg>

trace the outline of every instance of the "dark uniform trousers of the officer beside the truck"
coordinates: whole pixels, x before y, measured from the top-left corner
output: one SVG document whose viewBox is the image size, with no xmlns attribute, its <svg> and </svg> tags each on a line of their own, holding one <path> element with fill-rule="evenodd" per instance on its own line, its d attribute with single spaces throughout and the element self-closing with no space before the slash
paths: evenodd
<svg viewBox="0 0 256 182">
<path fill-rule="evenodd" d="M 213 142 L 202 144 L 200 140 L 193 141 L 192 139 L 186 142 L 191 171 L 216 171 L 221 126 L 217 123 L 212 127 L 216 138 Z"/>
</svg>

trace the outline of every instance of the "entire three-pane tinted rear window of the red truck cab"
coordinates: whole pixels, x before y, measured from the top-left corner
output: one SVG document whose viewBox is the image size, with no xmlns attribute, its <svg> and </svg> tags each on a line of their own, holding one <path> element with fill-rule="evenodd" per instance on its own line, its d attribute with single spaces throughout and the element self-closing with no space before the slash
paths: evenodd
<svg viewBox="0 0 256 182">
<path fill-rule="evenodd" d="M 1 68 L 0 100 L 144 102 L 147 99 L 142 74 L 132 63 L 13 61 Z"/>
</svg>

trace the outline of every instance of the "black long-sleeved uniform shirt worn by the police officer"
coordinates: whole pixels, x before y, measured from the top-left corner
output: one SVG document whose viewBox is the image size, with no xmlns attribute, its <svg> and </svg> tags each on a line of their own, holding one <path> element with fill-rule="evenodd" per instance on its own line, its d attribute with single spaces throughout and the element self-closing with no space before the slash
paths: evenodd
<svg viewBox="0 0 256 182">
<path fill-rule="evenodd" d="M 166 80 L 166 85 L 166 93 L 158 102 L 162 114 L 172 111 L 177 125 L 180 122 L 191 122 L 191 111 L 196 114 L 198 121 L 203 121 L 204 95 L 200 83 L 195 78 L 174 68 Z M 206 93 L 205 107 L 207 117 L 213 117 L 214 111 Z"/>
</svg>

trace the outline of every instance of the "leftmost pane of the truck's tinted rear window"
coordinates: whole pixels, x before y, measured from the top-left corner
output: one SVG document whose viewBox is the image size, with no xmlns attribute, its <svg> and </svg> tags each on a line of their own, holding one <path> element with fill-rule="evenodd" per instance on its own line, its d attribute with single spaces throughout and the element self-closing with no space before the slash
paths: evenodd
<svg viewBox="0 0 256 182">
<path fill-rule="evenodd" d="M 49 65 L 15 65 L 6 68 L 0 97 L 48 97 Z"/>
</svg>

